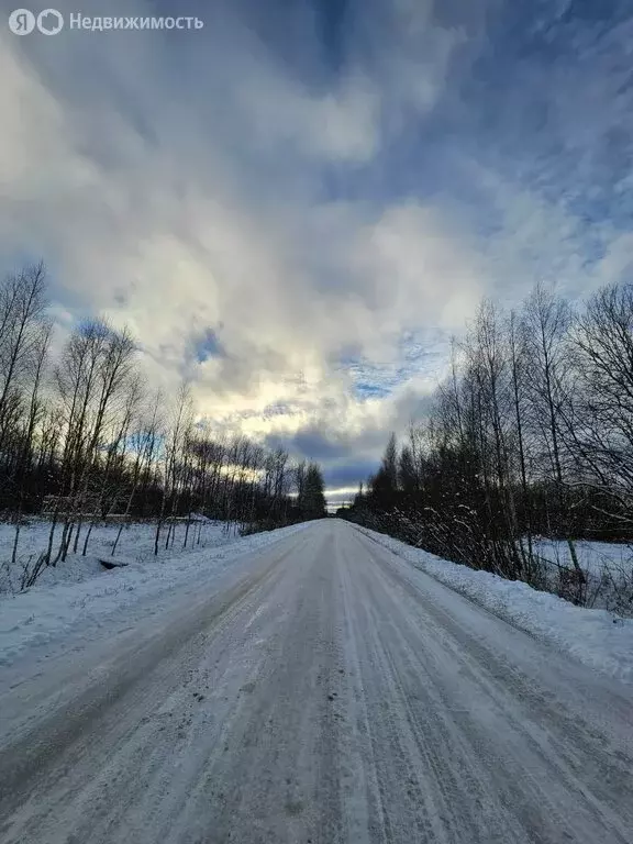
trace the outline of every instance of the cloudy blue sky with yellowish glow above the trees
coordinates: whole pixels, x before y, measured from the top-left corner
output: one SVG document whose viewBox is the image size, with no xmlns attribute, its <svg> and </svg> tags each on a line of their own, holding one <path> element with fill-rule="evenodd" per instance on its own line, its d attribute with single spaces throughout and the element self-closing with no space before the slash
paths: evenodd
<svg viewBox="0 0 633 844">
<path fill-rule="evenodd" d="M 57 0 L 199 30 L 16 36 L 0 270 L 66 330 L 319 460 L 331 502 L 419 418 L 481 297 L 631 276 L 630 0 Z M 37 13 L 43 7 L 31 7 Z"/>
</svg>

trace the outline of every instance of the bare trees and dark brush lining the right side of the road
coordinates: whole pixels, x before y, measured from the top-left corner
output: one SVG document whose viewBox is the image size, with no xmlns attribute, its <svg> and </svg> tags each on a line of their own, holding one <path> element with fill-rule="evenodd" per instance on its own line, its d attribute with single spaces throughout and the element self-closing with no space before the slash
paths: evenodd
<svg viewBox="0 0 633 844">
<path fill-rule="evenodd" d="M 633 286 L 577 311 L 543 285 L 511 313 L 485 300 L 429 417 L 341 514 L 536 586 L 535 537 L 564 540 L 557 588 L 584 603 L 574 540 L 633 540 Z"/>
</svg>

